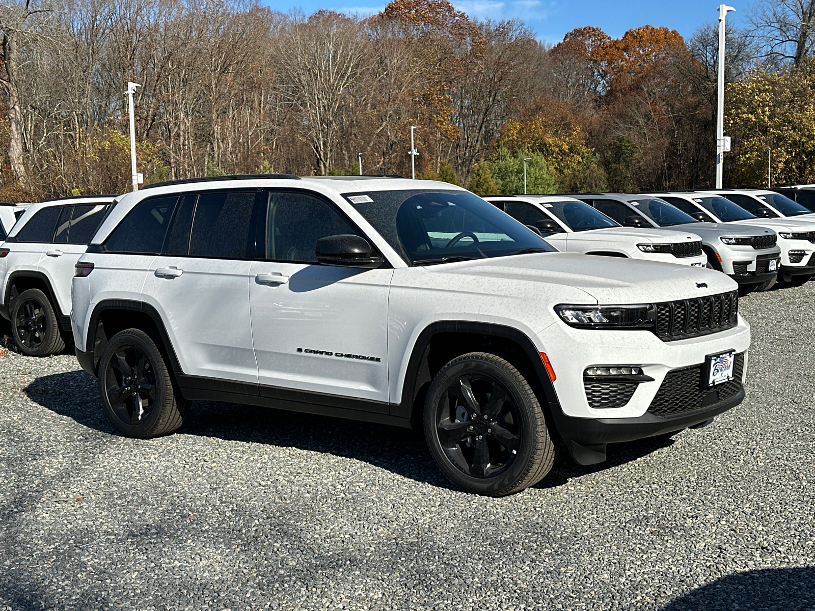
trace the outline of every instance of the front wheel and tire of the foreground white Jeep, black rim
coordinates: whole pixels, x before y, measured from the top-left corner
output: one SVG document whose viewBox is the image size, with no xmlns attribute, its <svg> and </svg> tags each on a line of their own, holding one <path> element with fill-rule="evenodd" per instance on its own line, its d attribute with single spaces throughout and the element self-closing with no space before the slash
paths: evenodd
<svg viewBox="0 0 815 611">
<path fill-rule="evenodd" d="M 512 495 L 542 480 L 554 463 L 535 392 L 495 354 L 463 354 L 442 367 L 428 389 L 424 416 L 430 454 L 462 490 Z"/>
</svg>

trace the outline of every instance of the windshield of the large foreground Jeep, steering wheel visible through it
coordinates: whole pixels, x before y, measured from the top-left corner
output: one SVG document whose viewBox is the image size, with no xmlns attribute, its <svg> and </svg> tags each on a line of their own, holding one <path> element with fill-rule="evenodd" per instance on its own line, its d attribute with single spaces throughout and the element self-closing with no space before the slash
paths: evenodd
<svg viewBox="0 0 815 611">
<path fill-rule="evenodd" d="M 540 235 L 469 191 L 412 189 L 343 196 L 414 265 L 555 250 Z"/>
</svg>

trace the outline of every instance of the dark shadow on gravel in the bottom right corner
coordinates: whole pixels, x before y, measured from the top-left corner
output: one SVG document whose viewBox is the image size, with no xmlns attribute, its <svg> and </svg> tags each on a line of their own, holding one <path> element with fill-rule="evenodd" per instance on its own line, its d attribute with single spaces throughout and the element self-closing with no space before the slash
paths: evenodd
<svg viewBox="0 0 815 611">
<path fill-rule="evenodd" d="M 728 575 L 673 600 L 662 611 L 815 609 L 815 569 L 758 569 Z"/>
</svg>

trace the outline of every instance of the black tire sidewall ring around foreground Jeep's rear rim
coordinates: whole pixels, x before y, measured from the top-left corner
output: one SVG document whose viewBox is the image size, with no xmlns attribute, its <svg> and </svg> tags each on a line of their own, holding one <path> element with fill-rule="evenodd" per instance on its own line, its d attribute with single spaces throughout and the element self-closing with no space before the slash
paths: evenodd
<svg viewBox="0 0 815 611">
<path fill-rule="evenodd" d="M 139 424 L 128 424 L 122 421 L 116 414 L 116 411 L 113 410 L 110 399 L 108 398 L 107 386 L 108 384 L 115 383 L 112 377 L 108 377 L 113 376 L 112 368 L 110 367 L 111 358 L 118 349 L 127 346 L 138 348 L 148 356 L 156 380 L 156 399 L 155 402 L 153 402 L 152 410 L 150 415 Z M 161 370 L 164 368 L 165 363 L 164 358 L 161 357 L 161 352 L 150 336 L 145 332 L 132 329 L 122 331 L 113 336 L 111 341 L 108 342 L 102 354 L 102 358 L 99 361 L 99 375 L 97 377 L 99 398 L 102 401 L 102 407 L 104 407 L 105 415 L 108 416 L 108 420 L 110 420 L 111 424 L 122 435 L 143 439 L 153 437 L 152 430 L 156 428 L 161 418 L 161 407 L 164 406 L 167 401 L 167 393 L 172 392 L 172 389 L 167 388 L 167 385 L 165 385 L 165 376 L 161 375 Z"/>
</svg>

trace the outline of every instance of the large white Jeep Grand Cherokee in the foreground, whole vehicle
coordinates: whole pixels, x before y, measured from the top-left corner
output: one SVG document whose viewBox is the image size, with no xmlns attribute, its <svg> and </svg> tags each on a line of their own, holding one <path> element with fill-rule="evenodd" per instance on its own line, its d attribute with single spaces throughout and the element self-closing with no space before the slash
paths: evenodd
<svg viewBox="0 0 815 611">
<path fill-rule="evenodd" d="M 76 270 L 77 358 L 131 437 L 173 432 L 196 399 L 423 423 L 447 477 L 507 495 L 557 445 L 595 464 L 744 398 L 733 280 L 555 252 L 443 182 L 151 185 Z"/>
</svg>

